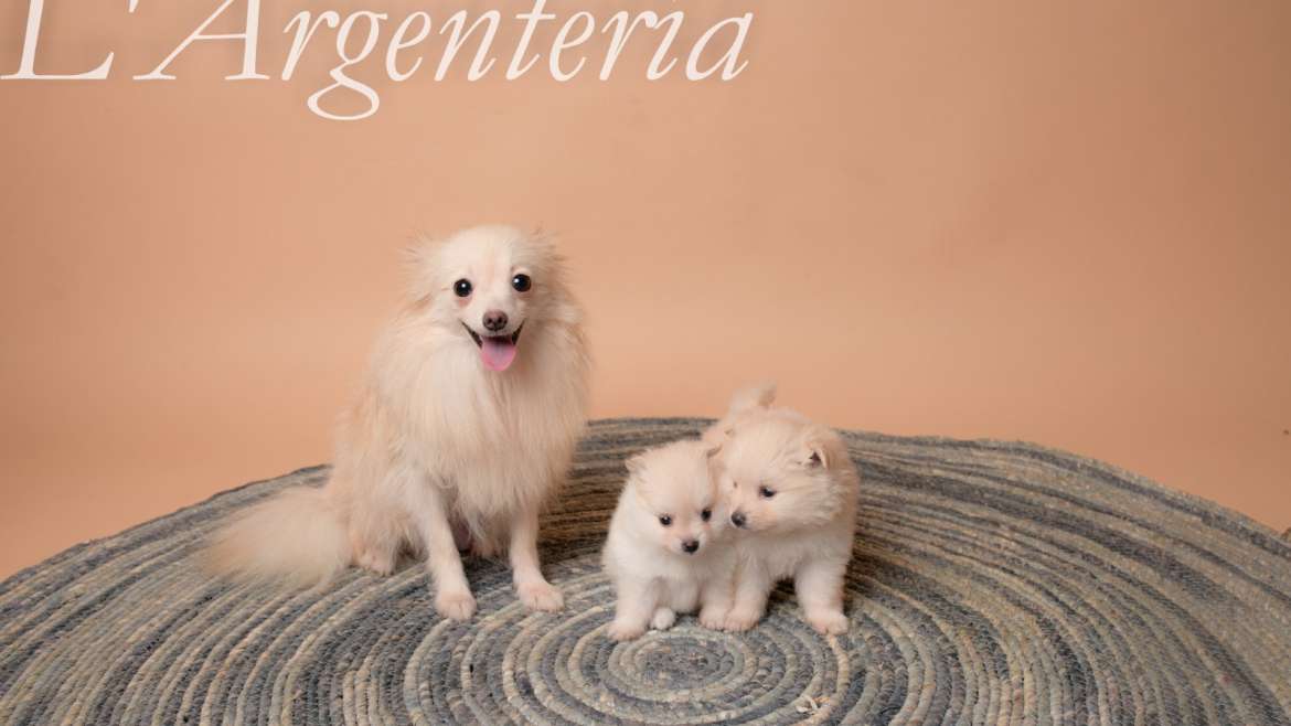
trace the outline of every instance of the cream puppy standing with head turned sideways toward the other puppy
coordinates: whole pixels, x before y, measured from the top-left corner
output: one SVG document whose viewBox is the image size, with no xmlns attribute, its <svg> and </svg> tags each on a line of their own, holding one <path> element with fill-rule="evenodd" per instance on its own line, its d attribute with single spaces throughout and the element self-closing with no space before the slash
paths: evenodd
<svg viewBox="0 0 1291 726">
<path fill-rule="evenodd" d="M 704 437 L 720 444 L 717 483 L 737 527 L 738 574 L 724 628 L 753 627 L 776 581 L 793 577 L 807 623 L 846 633 L 843 575 L 860 479 L 837 433 L 772 407 L 773 399 L 769 384 L 737 393 Z"/>
</svg>

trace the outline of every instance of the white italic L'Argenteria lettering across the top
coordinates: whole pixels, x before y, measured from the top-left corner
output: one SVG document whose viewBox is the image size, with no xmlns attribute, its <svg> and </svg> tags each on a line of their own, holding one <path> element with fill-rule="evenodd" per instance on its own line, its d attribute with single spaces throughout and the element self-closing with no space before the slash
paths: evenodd
<svg viewBox="0 0 1291 726">
<path fill-rule="evenodd" d="M 141 3 L 141 0 L 124 1 L 129 13 L 134 13 Z M 225 76 L 225 80 L 272 80 L 272 76 L 262 72 L 261 58 L 257 58 L 261 41 L 261 3 L 262 0 L 219 1 L 219 5 L 179 40 L 174 50 L 156 67 L 130 78 L 137 81 L 174 80 L 176 76 L 169 74 L 168 68 L 181 54 L 199 43 L 230 43 L 240 45 L 241 70 Z M 245 5 L 245 17 L 236 9 L 230 10 L 235 4 Z M 103 61 L 88 71 L 36 71 L 44 9 L 45 0 L 28 0 L 18 71 L 0 75 L 0 80 L 107 79 L 112 72 L 115 57 L 112 49 L 105 49 Z M 281 72 L 278 78 L 283 81 L 292 80 L 297 66 L 307 54 L 327 53 L 334 57 L 337 63 L 329 71 L 332 83 L 310 94 L 306 103 L 310 111 L 324 119 L 352 121 L 372 116 L 381 106 L 376 89 L 355 79 L 351 72 L 351 68 L 364 62 L 380 63 L 381 71 L 394 83 L 404 83 L 417 76 L 442 81 L 451 72 L 461 72 L 458 68 L 465 68 L 465 78 L 471 81 L 491 74 L 505 74 L 506 80 L 511 81 L 531 71 L 550 74 L 560 83 L 571 81 L 580 74 L 595 74 L 607 81 L 616 71 L 620 75 L 639 72 L 649 80 L 660 80 L 675 72 L 689 81 L 707 79 L 729 81 L 749 66 L 742 53 L 753 28 L 753 13 L 722 18 L 702 32 L 688 28 L 692 31 L 687 32 L 689 40 L 679 41 L 679 34 L 687 22 L 686 12 L 680 9 L 667 13 L 602 10 L 599 16 L 581 10 L 564 18 L 546 10 L 547 0 L 533 0 L 532 8 L 515 16 L 505 16 L 501 10 L 474 14 L 456 10 L 439 14 L 434 9 L 426 9 L 402 17 L 374 10 L 301 10 L 283 28 L 290 44 L 285 57 L 281 58 Z M 230 13 L 229 18 L 221 21 L 226 12 Z M 217 21 L 227 25 L 230 19 L 238 25 L 236 32 L 208 31 Z M 507 23 L 513 23 L 513 27 L 506 27 Z M 505 48 L 501 43 L 496 43 L 500 28 L 511 31 L 509 35 L 514 35 L 516 41 Z M 550 44 L 534 43 L 534 36 L 540 32 L 550 36 Z M 431 37 L 432 35 L 436 37 Z M 595 57 L 589 57 L 587 44 L 598 40 L 596 36 L 599 36 L 599 41 L 595 43 L 598 53 Z M 646 49 L 649 61 L 640 67 L 622 70 L 621 58 L 630 44 L 638 44 L 638 50 Z M 423 61 L 427 59 L 430 63 L 423 68 Z M 360 107 L 356 111 L 336 111 L 343 94 L 352 96 L 349 106 L 354 106 L 354 101 L 358 99 Z"/>
</svg>

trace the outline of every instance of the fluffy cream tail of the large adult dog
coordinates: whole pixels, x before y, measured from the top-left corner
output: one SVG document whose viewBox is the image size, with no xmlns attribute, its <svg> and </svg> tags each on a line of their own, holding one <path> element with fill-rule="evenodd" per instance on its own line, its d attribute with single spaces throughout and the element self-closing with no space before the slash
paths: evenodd
<svg viewBox="0 0 1291 726">
<path fill-rule="evenodd" d="M 207 566 L 236 580 L 310 586 L 350 566 L 341 512 L 325 490 L 293 487 L 234 515 L 209 541 Z"/>
</svg>

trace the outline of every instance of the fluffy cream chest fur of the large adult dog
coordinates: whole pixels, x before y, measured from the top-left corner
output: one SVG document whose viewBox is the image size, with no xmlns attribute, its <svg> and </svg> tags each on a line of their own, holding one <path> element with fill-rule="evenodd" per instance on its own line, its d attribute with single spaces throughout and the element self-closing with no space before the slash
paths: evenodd
<svg viewBox="0 0 1291 726">
<path fill-rule="evenodd" d="M 383 357 L 380 397 L 400 419 L 398 456 L 442 487 L 470 524 L 507 517 L 544 501 L 559 482 L 582 431 L 582 351 L 563 345 L 564 331 L 525 331 L 520 359 L 506 372 L 480 366 L 469 341 L 452 333 Z M 412 362 L 412 364 L 409 364 Z"/>
</svg>

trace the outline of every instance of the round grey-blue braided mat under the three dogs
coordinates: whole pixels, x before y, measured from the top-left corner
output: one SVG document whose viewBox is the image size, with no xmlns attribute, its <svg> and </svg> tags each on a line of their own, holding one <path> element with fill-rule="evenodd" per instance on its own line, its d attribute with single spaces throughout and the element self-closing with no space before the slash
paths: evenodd
<svg viewBox="0 0 1291 726">
<path fill-rule="evenodd" d="M 622 461 L 702 424 L 591 425 L 544 521 L 553 615 L 476 559 L 467 624 L 420 566 L 294 594 L 195 567 L 221 515 L 323 468 L 75 546 L 0 584 L 0 723 L 1291 723 L 1291 543 L 1029 444 L 847 434 L 846 636 L 782 589 L 746 634 L 683 617 L 612 643 L 598 553 Z"/>
</svg>

